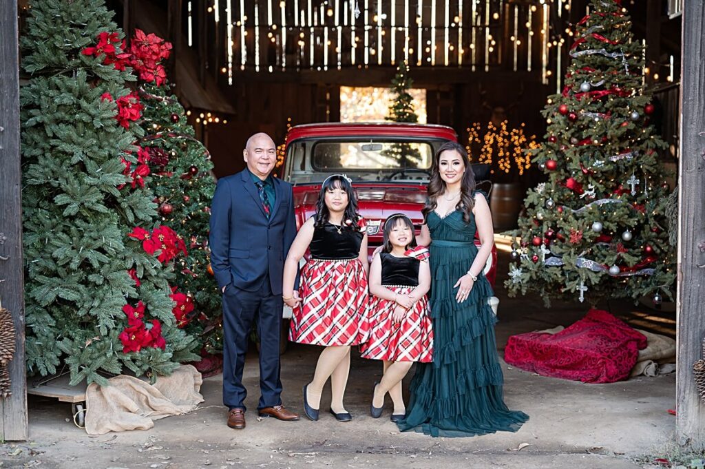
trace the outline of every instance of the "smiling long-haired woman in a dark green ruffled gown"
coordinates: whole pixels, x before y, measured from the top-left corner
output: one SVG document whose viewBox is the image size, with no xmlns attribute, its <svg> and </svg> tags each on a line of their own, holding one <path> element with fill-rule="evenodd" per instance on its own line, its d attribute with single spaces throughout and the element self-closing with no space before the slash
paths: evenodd
<svg viewBox="0 0 705 469">
<path fill-rule="evenodd" d="M 492 217 L 462 145 L 448 142 L 436 152 L 428 193 L 417 242 L 431 252 L 434 360 L 417 364 L 406 417 L 397 425 L 433 437 L 515 432 L 529 416 L 503 401 L 496 318 L 487 303 L 492 289 L 483 272 Z"/>
</svg>

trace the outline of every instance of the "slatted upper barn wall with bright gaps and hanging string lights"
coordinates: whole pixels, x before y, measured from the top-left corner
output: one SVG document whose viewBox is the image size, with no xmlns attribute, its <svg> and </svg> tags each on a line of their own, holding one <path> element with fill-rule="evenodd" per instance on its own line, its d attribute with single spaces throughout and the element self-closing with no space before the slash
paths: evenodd
<svg viewBox="0 0 705 469">
<path fill-rule="evenodd" d="M 188 1 L 185 32 L 197 47 L 197 17 L 207 16 L 204 37 L 218 36 L 207 47 L 216 49 L 231 84 L 238 65 L 271 73 L 401 60 L 472 71 L 541 71 L 548 83 L 559 80 L 560 55 L 572 42 L 572 1 L 207 0 L 204 10 Z M 216 28 L 223 21 L 226 27 Z"/>
</svg>

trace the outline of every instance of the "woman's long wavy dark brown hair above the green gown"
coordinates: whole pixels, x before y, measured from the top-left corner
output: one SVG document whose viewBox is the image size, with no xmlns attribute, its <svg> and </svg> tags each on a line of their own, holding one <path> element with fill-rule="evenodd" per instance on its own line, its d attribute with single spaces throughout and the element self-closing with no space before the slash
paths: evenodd
<svg viewBox="0 0 705 469">
<path fill-rule="evenodd" d="M 428 188 L 429 199 L 428 202 L 426 202 L 426 207 L 421 210 L 421 213 L 424 215 L 424 223 L 426 223 L 431 211 L 438 207 L 438 198 L 446 191 L 446 183 L 441 179 L 441 173 L 439 171 L 439 161 L 441 154 L 447 151 L 458 152 L 462 163 L 465 164 L 465 172 L 462 174 L 462 180 L 460 181 L 460 201 L 458 205 L 455 206 L 455 209 L 462 210 L 462 219 L 465 220 L 465 223 L 470 223 L 472 209 L 475 206 L 473 198 L 475 175 L 472 172 L 472 166 L 470 166 L 470 159 L 467 157 L 465 147 L 458 142 L 444 143 L 434 155 L 434 164 L 431 166 L 431 180 L 429 181 Z"/>
</svg>

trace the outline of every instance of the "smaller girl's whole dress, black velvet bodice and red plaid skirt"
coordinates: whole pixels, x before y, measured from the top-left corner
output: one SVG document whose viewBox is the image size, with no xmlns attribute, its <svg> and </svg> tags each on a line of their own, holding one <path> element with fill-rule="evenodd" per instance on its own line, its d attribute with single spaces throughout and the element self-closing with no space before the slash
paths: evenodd
<svg viewBox="0 0 705 469">
<path fill-rule="evenodd" d="M 407 257 L 380 252 L 382 286 L 400 295 L 408 295 L 419 285 L 419 261 L 427 257 L 425 248 L 408 250 Z M 372 296 L 369 304 L 370 331 L 367 343 L 360 346 L 362 358 L 401 362 L 432 362 L 434 332 L 429 317 L 429 303 L 424 295 L 406 312 L 401 322 L 392 322 L 397 303 Z"/>
</svg>

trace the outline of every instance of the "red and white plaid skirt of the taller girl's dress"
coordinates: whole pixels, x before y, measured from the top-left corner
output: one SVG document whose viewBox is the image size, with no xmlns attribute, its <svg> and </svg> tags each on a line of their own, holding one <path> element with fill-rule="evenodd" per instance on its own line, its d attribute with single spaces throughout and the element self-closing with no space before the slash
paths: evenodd
<svg viewBox="0 0 705 469">
<path fill-rule="evenodd" d="M 359 259 L 308 260 L 301 270 L 299 296 L 290 341 L 354 346 L 367 340 L 367 273 Z"/>
</svg>

